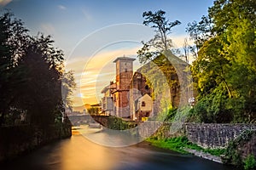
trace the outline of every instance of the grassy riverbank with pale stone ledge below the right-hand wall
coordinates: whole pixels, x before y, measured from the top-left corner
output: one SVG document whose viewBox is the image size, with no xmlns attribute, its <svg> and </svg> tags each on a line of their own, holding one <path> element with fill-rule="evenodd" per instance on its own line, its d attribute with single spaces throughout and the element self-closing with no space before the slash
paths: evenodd
<svg viewBox="0 0 256 170">
<path fill-rule="evenodd" d="M 177 151 L 183 154 L 193 154 L 207 160 L 222 163 L 221 156 L 224 149 L 204 149 L 197 144 L 191 143 L 185 136 L 170 139 L 157 139 L 155 137 L 146 139 L 150 144 L 167 150 Z"/>
</svg>

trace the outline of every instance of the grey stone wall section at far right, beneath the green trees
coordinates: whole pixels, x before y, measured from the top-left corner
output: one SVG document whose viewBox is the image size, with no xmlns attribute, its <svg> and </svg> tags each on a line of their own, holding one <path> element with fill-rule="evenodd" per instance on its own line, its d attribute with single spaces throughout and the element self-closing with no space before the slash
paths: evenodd
<svg viewBox="0 0 256 170">
<path fill-rule="evenodd" d="M 247 129 L 256 129 L 256 124 L 184 124 L 189 141 L 204 148 L 224 148 Z"/>
</svg>

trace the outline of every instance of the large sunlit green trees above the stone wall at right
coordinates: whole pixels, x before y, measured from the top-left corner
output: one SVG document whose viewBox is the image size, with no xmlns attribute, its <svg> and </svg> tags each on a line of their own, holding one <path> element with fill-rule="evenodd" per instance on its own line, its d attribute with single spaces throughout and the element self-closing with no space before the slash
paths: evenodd
<svg viewBox="0 0 256 170">
<path fill-rule="evenodd" d="M 216 0 L 207 17 L 189 23 L 197 48 L 191 71 L 199 122 L 256 122 L 255 6 L 250 0 Z"/>
</svg>

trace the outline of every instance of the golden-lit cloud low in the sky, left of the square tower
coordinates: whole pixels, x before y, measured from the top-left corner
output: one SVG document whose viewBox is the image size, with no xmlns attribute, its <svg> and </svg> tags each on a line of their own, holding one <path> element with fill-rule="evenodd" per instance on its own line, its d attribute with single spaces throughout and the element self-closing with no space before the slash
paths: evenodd
<svg viewBox="0 0 256 170">
<path fill-rule="evenodd" d="M 102 96 L 101 91 L 113 81 L 115 77 L 115 64 L 113 59 L 119 56 L 134 57 L 137 54 L 137 48 L 113 49 L 102 51 L 93 57 L 77 57 L 68 59 L 66 63 L 67 70 L 75 71 L 77 90 L 74 93 L 74 105 L 80 97 L 84 103 L 98 103 Z M 134 70 L 138 68 L 134 65 Z M 81 95 L 82 94 L 82 95 Z"/>
</svg>

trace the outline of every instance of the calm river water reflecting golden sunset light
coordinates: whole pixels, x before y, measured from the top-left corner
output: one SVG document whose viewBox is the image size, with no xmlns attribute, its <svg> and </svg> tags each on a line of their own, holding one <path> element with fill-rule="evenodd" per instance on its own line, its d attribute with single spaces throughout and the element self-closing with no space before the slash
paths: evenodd
<svg viewBox="0 0 256 170">
<path fill-rule="evenodd" d="M 104 133 L 91 133 L 104 138 Z M 26 170 L 228 170 L 222 164 L 196 156 L 184 156 L 143 142 L 129 147 L 95 144 L 79 133 L 0 165 L 0 169 Z"/>
</svg>

